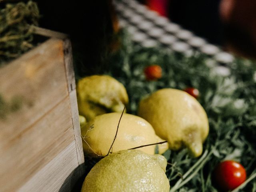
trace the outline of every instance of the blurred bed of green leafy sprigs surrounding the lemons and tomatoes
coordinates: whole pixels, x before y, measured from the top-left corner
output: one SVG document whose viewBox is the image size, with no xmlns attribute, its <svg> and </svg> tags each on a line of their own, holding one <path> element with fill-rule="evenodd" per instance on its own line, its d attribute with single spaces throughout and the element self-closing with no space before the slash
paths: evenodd
<svg viewBox="0 0 256 192">
<path fill-rule="evenodd" d="M 146 66 L 157 64 L 163 75 L 147 81 Z M 111 54 L 103 72 L 122 82 L 129 95 L 128 113 L 136 114 L 141 98 L 161 88 L 197 88 L 198 101 L 206 110 L 210 132 L 204 154 L 191 158 L 186 149 L 168 150 L 166 175 L 171 192 L 217 191 L 212 171 L 222 160 L 236 160 L 245 168 L 248 182 L 240 191 L 256 191 L 256 63 L 237 59 L 225 74 L 206 55 L 170 53 L 161 48 L 142 48 L 122 34 L 120 49 Z M 234 191 L 238 191 L 234 190 Z"/>
</svg>

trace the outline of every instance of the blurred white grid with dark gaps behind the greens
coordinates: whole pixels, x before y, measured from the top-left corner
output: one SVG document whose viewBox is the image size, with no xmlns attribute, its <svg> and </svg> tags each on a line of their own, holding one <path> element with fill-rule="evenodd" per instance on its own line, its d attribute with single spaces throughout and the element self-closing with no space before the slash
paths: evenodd
<svg viewBox="0 0 256 192">
<path fill-rule="evenodd" d="M 145 47 L 162 45 L 172 51 L 190 55 L 194 50 L 209 55 L 221 63 L 230 63 L 234 57 L 218 46 L 185 30 L 180 25 L 159 16 L 136 0 L 114 0 L 121 27 L 128 29 L 132 40 Z"/>
</svg>

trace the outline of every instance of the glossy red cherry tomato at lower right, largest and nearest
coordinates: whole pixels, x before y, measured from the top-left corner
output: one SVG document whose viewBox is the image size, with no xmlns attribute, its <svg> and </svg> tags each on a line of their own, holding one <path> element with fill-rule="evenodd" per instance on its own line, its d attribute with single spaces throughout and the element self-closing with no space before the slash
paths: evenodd
<svg viewBox="0 0 256 192">
<path fill-rule="evenodd" d="M 233 190 L 246 180 L 246 171 L 240 163 L 226 160 L 216 166 L 214 180 L 220 189 Z"/>
</svg>

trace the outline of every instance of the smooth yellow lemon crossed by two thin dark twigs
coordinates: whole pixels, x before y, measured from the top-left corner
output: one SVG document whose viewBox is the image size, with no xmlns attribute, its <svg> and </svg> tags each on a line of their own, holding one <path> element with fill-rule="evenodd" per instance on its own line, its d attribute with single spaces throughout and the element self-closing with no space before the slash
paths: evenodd
<svg viewBox="0 0 256 192">
<path fill-rule="evenodd" d="M 86 155 L 94 157 L 108 154 L 121 114 L 114 112 L 96 116 L 81 128 L 83 149 Z M 160 141 L 146 120 L 135 115 L 123 114 L 112 150 L 116 152 Z M 139 150 L 154 154 L 155 147 L 155 145 L 146 146 Z M 166 150 L 166 145 L 163 145 L 162 148 Z M 164 151 L 162 148 L 159 150 L 160 152 Z"/>
</svg>

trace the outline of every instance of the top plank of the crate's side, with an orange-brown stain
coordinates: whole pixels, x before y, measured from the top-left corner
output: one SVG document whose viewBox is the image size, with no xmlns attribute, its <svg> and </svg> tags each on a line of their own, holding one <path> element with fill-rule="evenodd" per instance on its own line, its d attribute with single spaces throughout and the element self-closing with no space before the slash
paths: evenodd
<svg viewBox="0 0 256 192">
<path fill-rule="evenodd" d="M 0 149 L 68 96 L 63 74 L 63 42 L 54 39 L 1 68 L 0 93 L 8 101 L 22 97 L 23 108 L 0 119 Z"/>
</svg>

